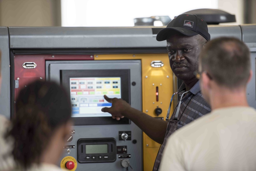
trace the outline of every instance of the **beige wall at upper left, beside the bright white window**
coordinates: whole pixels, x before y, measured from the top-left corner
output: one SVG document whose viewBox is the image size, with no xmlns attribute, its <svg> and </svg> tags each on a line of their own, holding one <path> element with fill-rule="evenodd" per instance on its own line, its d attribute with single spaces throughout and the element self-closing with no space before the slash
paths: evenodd
<svg viewBox="0 0 256 171">
<path fill-rule="evenodd" d="M 0 26 L 61 26 L 60 0 L 0 0 Z"/>
</svg>

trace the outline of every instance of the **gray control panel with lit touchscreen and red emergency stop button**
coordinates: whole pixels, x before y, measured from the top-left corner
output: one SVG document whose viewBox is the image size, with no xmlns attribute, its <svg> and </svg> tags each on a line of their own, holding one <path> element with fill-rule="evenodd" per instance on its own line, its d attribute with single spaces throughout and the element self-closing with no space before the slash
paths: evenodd
<svg viewBox="0 0 256 171">
<path fill-rule="evenodd" d="M 62 158 L 75 158 L 76 171 L 143 170 L 142 131 L 128 118 L 117 121 L 101 112 L 112 105 L 103 95 L 142 111 L 141 61 L 46 61 L 46 69 L 47 78 L 67 90 L 72 105 L 74 125 Z M 61 168 L 74 169 L 72 162 L 61 160 Z"/>
</svg>

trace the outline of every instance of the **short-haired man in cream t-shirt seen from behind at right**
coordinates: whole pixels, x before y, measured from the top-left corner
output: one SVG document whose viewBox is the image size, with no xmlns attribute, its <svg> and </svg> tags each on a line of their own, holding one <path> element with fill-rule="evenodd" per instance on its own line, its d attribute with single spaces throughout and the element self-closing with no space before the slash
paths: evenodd
<svg viewBox="0 0 256 171">
<path fill-rule="evenodd" d="M 256 111 L 246 98 L 250 68 L 242 41 L 223 37 L 205 45 L 197 78 L 212 112 L 170 136 L 160 170 L 256 170 Z"/>
</svg>

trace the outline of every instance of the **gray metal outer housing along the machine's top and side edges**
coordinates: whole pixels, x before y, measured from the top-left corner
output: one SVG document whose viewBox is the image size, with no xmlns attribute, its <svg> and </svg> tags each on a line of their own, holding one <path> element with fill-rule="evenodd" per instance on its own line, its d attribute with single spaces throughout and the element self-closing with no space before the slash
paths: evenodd
<svg viewBox="0 0 256 171">
<path fill-rule="evenodd" d="M 2 91 L 0 113 L 10 119 L 11 87 L 14 87 L 12 58 L 14 54 L 109 54 L 109 53 L 166 53 L 166 42 L 156 41 L 164 27 L 0 27 L 2 53 Z M 253 78 L 248 84 L 250 106 L 256 107 L 255 52 L 256 25 L 208 26 L 211 39 L 221 36 L 236 37 L 251 51 Z M 39 41 L 40 40 L 40 41 Z M 12 84 L 11 84 L 12 82 Z M 176 87 L 176 86 L 174 86 Z M 12 105 L 13 108 L 13 105 Z"/>
</svg>

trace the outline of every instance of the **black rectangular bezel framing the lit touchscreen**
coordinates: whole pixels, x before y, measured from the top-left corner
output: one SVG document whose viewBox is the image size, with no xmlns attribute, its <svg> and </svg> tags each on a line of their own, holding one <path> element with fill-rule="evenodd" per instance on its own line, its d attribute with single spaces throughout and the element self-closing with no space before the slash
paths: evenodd
<svg viewBox="0 0 256 171">
<path fill-rule="evenodd" d="M 130 103 L 130 69 L 113 70 L 60 70 L 62 86 L 70 92 L 70 78 L 76 77 L 121 77 L 121 98 Z M 70 99 L 70 93 L 69 99 Z M 131 124 L 131 121 L 124 117 L 119 121 L 111 116 L 103 117 L 72 117 L 74 125 L 109 125 L 109 124 Z"/>
</svg>

